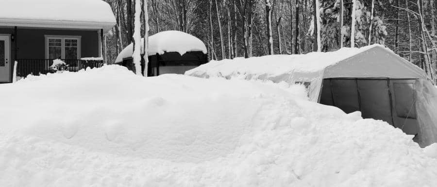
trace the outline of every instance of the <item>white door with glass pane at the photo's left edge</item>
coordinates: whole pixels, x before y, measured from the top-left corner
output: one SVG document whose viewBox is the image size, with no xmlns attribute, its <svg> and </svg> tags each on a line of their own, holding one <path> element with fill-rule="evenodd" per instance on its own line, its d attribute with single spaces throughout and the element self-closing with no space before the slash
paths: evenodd
<svg viewBox="0 0 437 187">
<path fill-rule="evenodd" d="M 0 83 L 10 82 L 11 58 L 9 55 L 11 52 L 9 48 L 9 36 L 0 36 Z"/>
</svg>

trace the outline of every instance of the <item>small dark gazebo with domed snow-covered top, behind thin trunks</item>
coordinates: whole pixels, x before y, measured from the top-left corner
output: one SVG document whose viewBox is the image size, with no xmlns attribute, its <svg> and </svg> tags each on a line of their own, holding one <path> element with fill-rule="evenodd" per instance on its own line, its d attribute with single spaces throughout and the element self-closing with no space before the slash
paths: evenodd
<svg viewBox="0 0 437 187">
<path fill-rule="evenodd" d="M 141 54 L 144 55 L 144 39 L 141 40 Z M 118 54 L 116 64 L 135 71 L 132 55 L 133 44 Z M 208 62 L 208 51 L 199 38 L 180 31 L 164 31 L 149 36 L 148 76 L 167 73 L 184 74 L 186 70 L 196 68 Z M 145 62 L 142 57 L 141 68 Z"/>
</svg>

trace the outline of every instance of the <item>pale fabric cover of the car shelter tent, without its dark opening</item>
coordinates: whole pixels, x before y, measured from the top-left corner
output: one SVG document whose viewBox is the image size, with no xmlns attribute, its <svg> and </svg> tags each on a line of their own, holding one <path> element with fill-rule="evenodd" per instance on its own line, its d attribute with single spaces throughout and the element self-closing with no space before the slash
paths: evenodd
<svg viewBox="0 0 437 187">
<path fill-rule="evenodd" d="M 211 61 L 186 71 L 185 75 L 225 79 L 262 80 L 307 86 L 310 101 L 319 102 L 326 78 L 416 79 L 417 114 L 420 116 L 419 143 L 422 147 L 437 142 L 437 97 L 423 70 L 381 45 L 343 48 L 334 52 L 300 55 L 269 55 L 248 59 Z"/>
</svg>

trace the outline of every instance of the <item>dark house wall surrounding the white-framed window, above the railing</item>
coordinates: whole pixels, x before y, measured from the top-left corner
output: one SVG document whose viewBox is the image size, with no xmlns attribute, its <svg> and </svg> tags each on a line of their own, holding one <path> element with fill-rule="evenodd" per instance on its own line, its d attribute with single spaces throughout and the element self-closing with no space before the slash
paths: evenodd
<svg viewBox="0 0 437 187">
<path fill-rule="evenodd" d="M 0 28 L 0 34 L 14 34 L 14 28 Z M 15 46 L 18 59 L 45 59 L 45 35 L 81 36 L 81 57 L 99 56 L 99 32 L 85 30 L 17 29 L 15 41 L 11 41 L 11 62 L 15 61 Z M 12 77 L 13 66 L 11 66 Z M 12 80 L 12 78 L 11 78 Z"/>
</svg>

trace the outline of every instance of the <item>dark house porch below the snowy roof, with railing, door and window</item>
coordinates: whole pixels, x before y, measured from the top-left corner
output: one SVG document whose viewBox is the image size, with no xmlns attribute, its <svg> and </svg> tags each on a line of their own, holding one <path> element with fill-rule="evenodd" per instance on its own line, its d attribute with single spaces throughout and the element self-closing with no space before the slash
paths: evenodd
<svg viewBox="0 0 437 187">
<path fill-rule="evenodd" d="M 103 31 L 87 29 L 19 28 L 0 25 L 0 82 L 10 83 L 17 61 L 17 76 L 54 72 L 53 59 L 61 59 L 68 71 L 100 68 Z M 83 59 L 83 60 L 82 60 Z M 92 60 L 90 60 L 92 59 Z"/>
</svg>

